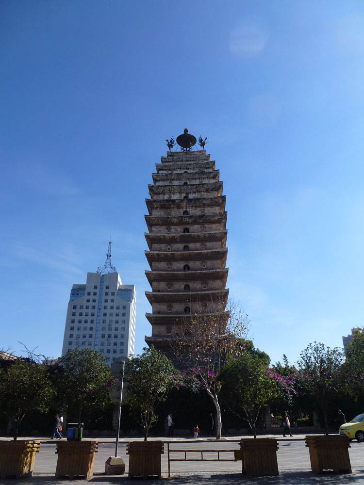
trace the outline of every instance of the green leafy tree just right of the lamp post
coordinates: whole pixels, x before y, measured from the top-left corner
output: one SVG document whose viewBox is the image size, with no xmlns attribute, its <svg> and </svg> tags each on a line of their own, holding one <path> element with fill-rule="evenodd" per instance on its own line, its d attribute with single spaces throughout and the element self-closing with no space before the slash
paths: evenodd
<svg viewBox="0 0 364 485">
<path fill-rule="evenodd" d="M 137 412 L 137 421 L 147 441 L 149 429 L 158 421 L 157 405 L 179 384 L 178 372 L 162 352 L 151 347 L 132 357 L 126 363 L 125 373 L 128 386 L 125 402 Z"/>
</svg>

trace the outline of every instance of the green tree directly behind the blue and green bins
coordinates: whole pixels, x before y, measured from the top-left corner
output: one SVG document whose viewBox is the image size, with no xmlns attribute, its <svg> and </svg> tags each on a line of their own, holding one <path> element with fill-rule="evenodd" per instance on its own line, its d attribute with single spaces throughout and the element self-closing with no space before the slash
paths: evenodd
<svg viewBox="0 0 364 485">
<path fill-rule="evenodd" d="M 111 402 L 114 377 L 105 357 L 96 350 L 70 350 L 59 360 L 58 396 L 64 406 L 77 415 L 79 426 L 83 408 Z"/>
</svg>

